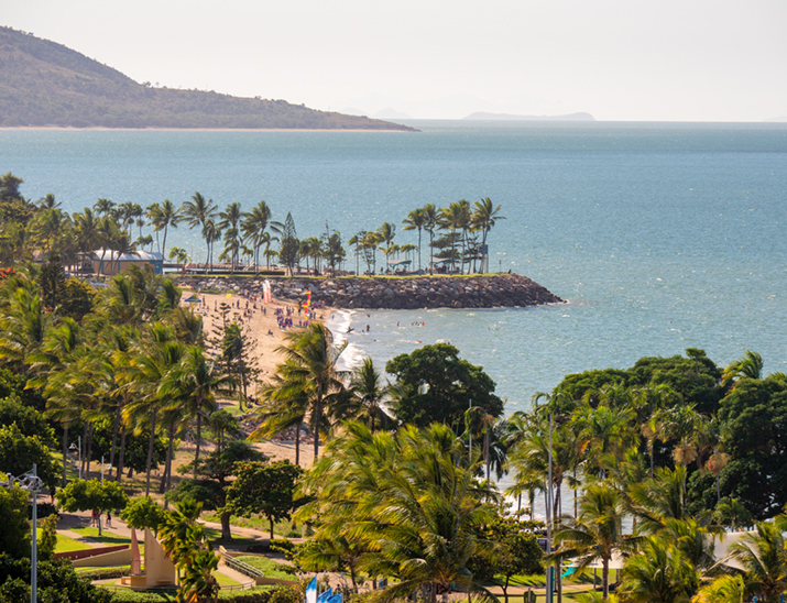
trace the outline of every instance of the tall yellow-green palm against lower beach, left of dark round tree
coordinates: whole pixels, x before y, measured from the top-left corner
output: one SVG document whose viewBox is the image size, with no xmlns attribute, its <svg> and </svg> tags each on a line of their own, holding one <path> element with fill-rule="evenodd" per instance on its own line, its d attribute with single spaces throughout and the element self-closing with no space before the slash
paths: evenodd
<svg viewBox="0 0 787 603">
<path fill-rule="evenodd" d="M 287 331 L 285 344 L 276 348 L 289 363 L 287 369 L 291 381 L 308 381 L 315 387 L 315 401 L 311 420 L 315 427 L 314 456 L 319 456 L 319 429 L 323 420 L 323 401 L 328 394 L 342 388 L 345 373 L 337 371 L 336 363 L 345 346 L 334 346 L 334 335 L 321 322 L 311 322 L 303 331 Z"/>
</svg>

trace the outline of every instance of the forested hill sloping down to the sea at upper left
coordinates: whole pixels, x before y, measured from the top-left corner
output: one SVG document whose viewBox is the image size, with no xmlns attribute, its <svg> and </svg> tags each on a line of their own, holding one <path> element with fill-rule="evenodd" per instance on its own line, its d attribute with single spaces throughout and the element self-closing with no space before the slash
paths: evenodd
<svg viewBox="0 0 787 603">
<path fill-rule="evenodd" d="M 72 51 L 0 26 L 0 127 L 412 130 L 284 100 L 154 88 Z"/>
</svg>

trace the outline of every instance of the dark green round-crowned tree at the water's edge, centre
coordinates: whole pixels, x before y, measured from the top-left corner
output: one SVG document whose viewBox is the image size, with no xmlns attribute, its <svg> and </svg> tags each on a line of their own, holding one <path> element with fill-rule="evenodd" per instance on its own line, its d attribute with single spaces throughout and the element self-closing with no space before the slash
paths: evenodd
<svg viewBox="0 0 787 603">
<path fill-rule="evenodd" d="M 387 362 L 385 371 L 396 380 L 400 396 L 391 406 L 403 423 L 424 427 L 438 421 L 460 430 L 470 406 L 493 417 L 503 412 L 492 379 L 481 366 L 460 360 L 459 350 L 448 343 L 400 354 Z"/>
</svg>

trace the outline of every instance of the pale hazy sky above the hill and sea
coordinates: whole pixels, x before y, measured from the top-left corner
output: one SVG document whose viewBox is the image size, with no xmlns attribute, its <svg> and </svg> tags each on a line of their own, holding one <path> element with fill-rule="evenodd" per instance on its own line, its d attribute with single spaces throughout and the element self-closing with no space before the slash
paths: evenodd
<svg viewBox="0 0 787 603">
<path fill-rule="evenodd" d="M 787 0 L 0 0 L 0 15 L 138 81 L 317 109 L 787 116 Z"/>
</svg>

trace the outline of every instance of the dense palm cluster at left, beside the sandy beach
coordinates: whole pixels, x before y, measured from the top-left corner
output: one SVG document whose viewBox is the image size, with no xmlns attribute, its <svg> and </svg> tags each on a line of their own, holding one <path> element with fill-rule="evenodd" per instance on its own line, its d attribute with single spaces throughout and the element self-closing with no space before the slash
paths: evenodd
<svg viewBox="0 0 787 603">
<path fill-rule="evenodd" d="M 168 448 L 161 491 L 171 484 L 175 435 L 192 427 L 196 471 L 203 425 L 216 409 L 217 394 L 228 393 L 233 380 L 206 353 L 201 317 L 179 299 L 171 281 L 132 268 L 98 293 L 94 311 L 77 322 L 44 307 L 32 273 L 0 286 L 0 364 L 26 373 L 28 386 L 46 398 L 45 414 L 63 426 L 64 482 L 69 428 L 81 428 L 87 472 L 97 421 L 112 426 L 108 460 L 118 468 L 118 481 L 132 430 L 149 435 L 145 494 L 154 441 L 162 434 Z"/>
</svg>

